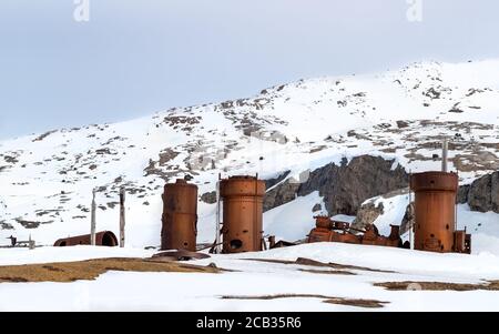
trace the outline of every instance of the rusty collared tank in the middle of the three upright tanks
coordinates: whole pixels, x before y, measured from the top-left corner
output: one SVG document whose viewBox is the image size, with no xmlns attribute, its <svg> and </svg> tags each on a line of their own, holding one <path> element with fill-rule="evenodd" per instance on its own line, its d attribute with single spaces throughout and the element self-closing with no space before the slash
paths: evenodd
<svg viewBox="0 0 499 334">
<path fill-rule="evenodd" d="M 222 253 L 262 251 L 265 182 L 254 176 L 221 180 L 223 201 Z"/>
</svg>

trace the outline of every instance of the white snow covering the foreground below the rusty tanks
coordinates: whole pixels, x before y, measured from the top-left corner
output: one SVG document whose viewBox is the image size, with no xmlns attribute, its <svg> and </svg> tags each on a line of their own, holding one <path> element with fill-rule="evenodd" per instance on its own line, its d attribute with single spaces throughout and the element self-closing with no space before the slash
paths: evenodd
<svg viewBox="0 0 499 334">
<path fill-rule="evenodd" d="M 57 250 L 59 260 L 105 256 L 145 256 L 142 250 L 89 246 Z M 19 263 L 52 261 L 50 247 L 35 251 L 0 250 L 4 259 Z M 355 275 L 327 274 L 306 265 L 259 262 L 307 257 L 325 263 L 366 266 L 349 269 Z M 31 260 L 30 260 L 31 259 Z M 252 260 L 249 260 L 252 259 Z M 10 261 L 8 261 L 10 263 Z M 436 254 L 389 247 L 340 243 L 305 244 L 258 253 L 215 255 L 194 264 L 215 263 L 234 272 L 130 273 L 108 272 L 95 281 L 73 283 L 1 283 L 0 311 L 366 311 L 359 306 L 324 303 L 324 297 L 275 300 L 224 300 L 222 296 L 265 296 L 277 294 L 324 295 L 386 302 L 370 311 L 499 311 L 499 292 L 493 291 L 386 291 L 376 282 L 485 283 L 499 280 L 499 257 Z M 326 272 L 324 272 L 326 271 Z"/>
</svg>

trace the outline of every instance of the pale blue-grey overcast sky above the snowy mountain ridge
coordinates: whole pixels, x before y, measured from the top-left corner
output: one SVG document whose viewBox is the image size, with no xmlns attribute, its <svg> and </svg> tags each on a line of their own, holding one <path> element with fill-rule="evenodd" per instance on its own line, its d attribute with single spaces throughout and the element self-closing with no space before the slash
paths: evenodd
<svg viewBox="0 0 499 334">
<path fill-rule="evenodd" d="M 497 0 L 422 0 L 421 22 L 407 0 L 90 0 L 89 22 L 75 8 L 0 0 L 0 138 L 301 78 L 499 57 Z"/>
</svg>

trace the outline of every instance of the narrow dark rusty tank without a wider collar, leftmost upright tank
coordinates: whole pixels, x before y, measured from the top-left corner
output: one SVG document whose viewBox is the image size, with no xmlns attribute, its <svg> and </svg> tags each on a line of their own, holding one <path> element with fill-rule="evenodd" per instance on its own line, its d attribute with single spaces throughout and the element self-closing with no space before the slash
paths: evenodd
<svg viewBox="0 0 499 334">
<path fill-rule="evenodd" d="M 179 179 L 164 186 L 162 250 L 196 251 L 197 186 Z"/>
</svg>

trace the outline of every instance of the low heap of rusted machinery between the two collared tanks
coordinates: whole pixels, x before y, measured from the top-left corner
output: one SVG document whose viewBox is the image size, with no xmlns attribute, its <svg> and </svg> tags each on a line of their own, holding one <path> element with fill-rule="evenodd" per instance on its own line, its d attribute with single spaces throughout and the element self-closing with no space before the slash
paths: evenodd
<svg viewBox="0 0 499 334">
<path fill-rule="evenodd" d="M 383 236 L 379 235 L 375 225 L 367 226 L 365 231 L 357 231 L 352 229 L 349 223 L 335 222 L 328 216 L 315 216 L 315 220 L 316 227 L 308 234 L 308 243 L 340 242 L 390 247 L 401 246 L 400 226 L 391 225 L 390 235 Z"/>
</svg>

